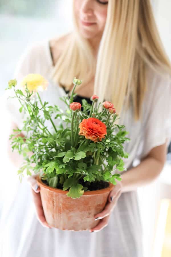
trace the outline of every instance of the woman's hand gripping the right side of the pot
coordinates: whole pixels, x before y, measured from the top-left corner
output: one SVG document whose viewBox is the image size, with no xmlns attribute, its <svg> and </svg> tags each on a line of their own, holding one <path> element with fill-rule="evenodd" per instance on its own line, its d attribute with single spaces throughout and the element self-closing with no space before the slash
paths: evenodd
<svg viewBox="0 0 171 257">
<path fill-rule="evenodd" d="M 105 205 L 105 208 L 102 212 L 99 212 L 94 216 L 94 218 L 99 217 L 100 222 L 95 226 L 94 228 L 91 228 L 89 232 L 98 232 L 105 228 L 108 225 L 110 214 L 114 207 L 117 204 L 117 201 L 122 193 L 122 182 L 117 180 L 116 186 L 113 188 L 113 190 L 110 192 L 108 196 L 107 204 Z M 113 201 L 111 201 L 111 197 L 113 196 Z"/>
</svg>

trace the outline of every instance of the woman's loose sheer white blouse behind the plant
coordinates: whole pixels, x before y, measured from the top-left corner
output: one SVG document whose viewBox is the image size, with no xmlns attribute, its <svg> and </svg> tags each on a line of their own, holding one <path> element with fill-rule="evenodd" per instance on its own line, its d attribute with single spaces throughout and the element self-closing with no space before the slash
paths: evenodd
<svg viewBox="0 0 171 257">
<path fill-rule="evenodd" d="M 48 90 L 41 92 L 42 101 L 50 105 L 64 104 L 59 97 L 66 95 L 58 85 L 49 79 L 53 68 L 48 41 L 29 46 L 21 56 L 13 78 L 20 81 L 28 73 L 39 73 L 49 80 Z M 66 73 L 67 76 L 67 73 Z M 9 78 L 9 79 L 13 79 Z M 80 78 L 81 79 L 81 78 Z M 8 99 L 4 95 L 3 107 L 10 113 L 19 128 L 22 115 L 19 113 L 18 99 Z M 122 125 L 129 131 L 124 150 L 129 158 L 124 159 L 125 168 L 131 168 L 133 161 L 141 160 L 155 146 L 167 146 L 171 140 L 171 79 L 168 75 L 157 75 L 149 69 L 148 93 L 143 103 L 143 122 L 135 122 L 130 108 Z M 55 124 L 58 123 L 54 120 Z M 48 124 L 49 129 L 51 125 Z M 14 172 L 14 170 L 13 170 Z M 126 172 L 129 172 L 126 171 Z M 7 173 L 8 174 L 8 173 Z M 8 178 L 9 180 L 9 178 Z M 34 203 L 27 178 L 20 184 L 18 177 L 10 188 L 12 193 L 5 202 L 0 225 L 3 231 L 2 257 L 142 257 L 142 226 L 137 200 L 137 190 L 124 192 L 113 209 L 108 225 L 101 231 L 63 231 L 43 227 L 34 212 Z"/>
</svg>

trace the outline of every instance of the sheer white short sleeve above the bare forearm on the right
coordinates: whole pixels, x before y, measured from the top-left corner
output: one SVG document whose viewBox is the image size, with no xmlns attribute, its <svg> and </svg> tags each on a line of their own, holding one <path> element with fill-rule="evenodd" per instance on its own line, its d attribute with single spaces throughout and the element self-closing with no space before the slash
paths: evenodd
<svg viewBox="0 0 171 257">
<path fill-rule="evenodd" d="M 167 140 L 171 141 L 171 79 L 157 78 L 151 91 L 150 112 L 144 127 L 143 156 Z"/>
</svg>

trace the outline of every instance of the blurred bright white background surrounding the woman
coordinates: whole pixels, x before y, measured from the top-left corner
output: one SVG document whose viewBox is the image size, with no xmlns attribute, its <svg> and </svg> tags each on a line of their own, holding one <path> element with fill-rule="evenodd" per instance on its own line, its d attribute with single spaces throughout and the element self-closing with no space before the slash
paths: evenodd
<svg viewBox="0 0 171 257">
<path fill-rule="evenodd" d="M 154 16 L 158 29 L 171 60 L 171 1 L 152 0 Z M 19 57 L 30 43 L 62 35 L 72 29 L 71 0 L 0 0 L 0 95 L 10 79 Z M 7 156 L 7 135 L 9 124 L 1 107 L 1 191 L 0 213 L 3 203 L 10 201 L 10 194 L 15 190 L 17 168 Z M 144 230 L 144 257 L 171 256 L 171 235 L 164 234 L 168 215 L 168 202 L 159 206 L 162 198 L 171 199 L 171 147 L 168 149 L 167 162 L 161 176 L 152 184 L 139 188 L 140 210 Z M 169 160 L 170 159 L 170 160 Z M 5 172 L 5 173 L 4 173 Z M 3 177 L 3 174 L 5 178 Z M 8 179 L 7 179 L 8 177 Z M 158 224 L 160 214 L 162 223 Z M 163 245 L 166 244 L 170 255 L 163 255 Z M 131 257 L 131 256 L 130 256 Z"/>
</svg>

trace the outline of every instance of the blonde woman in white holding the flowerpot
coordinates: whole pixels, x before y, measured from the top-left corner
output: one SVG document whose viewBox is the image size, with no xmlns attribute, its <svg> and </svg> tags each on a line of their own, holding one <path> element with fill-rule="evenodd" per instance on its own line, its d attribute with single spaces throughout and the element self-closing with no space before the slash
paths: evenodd
<svg viewBox="0 0 171 257">
<path fill-rule="evenodd" d="M 74 76 L 83 81 L 75 101 L 90 101 L 93 93 L 100 101 L 112 101 L 131 139 L 125 143 L 127 171 L 121 173 L 122 181 L 111 191 L 105 209 L 95 215 L 99 224 L 79 232 L 47 229 L 35 176 L 28 178 L 34 204 L 23 179 L 13 217 L 8 210 L 2 218 L 4 242 L 10 235 L 10 249 L 4 246 L 3 257 L 143 256 L 137 187 L 154 180 L 166 160 L 171 140 L 171 65 L 150 0 L 74 0 L 73 14 L 74 30 L 29 47 L 14 77 L 20 81 L 28 73 L 40 73 L 50 81 L 42 99 L 61 107 L 58 97 L 71 91 Z M 14 99 L 7 108 L 20 127 L 22 117 Z M 141 161 L 136 167 L 135 159 Z M 89 233 L 93 231 L 97 233 Z"/>
</svg>

